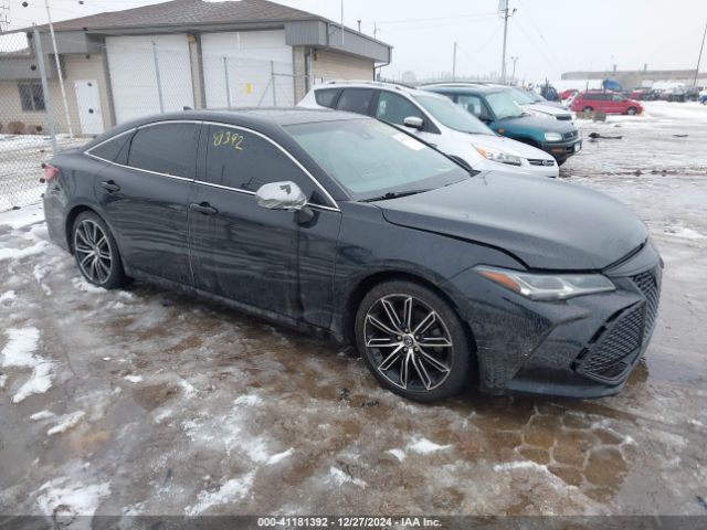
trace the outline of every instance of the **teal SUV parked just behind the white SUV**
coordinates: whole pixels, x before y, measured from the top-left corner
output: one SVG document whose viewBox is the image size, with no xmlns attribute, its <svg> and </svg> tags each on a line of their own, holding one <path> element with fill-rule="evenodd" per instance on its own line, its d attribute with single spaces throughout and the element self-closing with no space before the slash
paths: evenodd
<svg viewBox="0 0 707 530">
<path fill-rule="evenodd" d="M 558 166 L 582 148 L 579 130 L 571 121 L 530 116 L 505 87 L 468 84 L 430 85 L 423 89 L 449 97 L 499 135 L 549 152 Z"/>
</svg>

